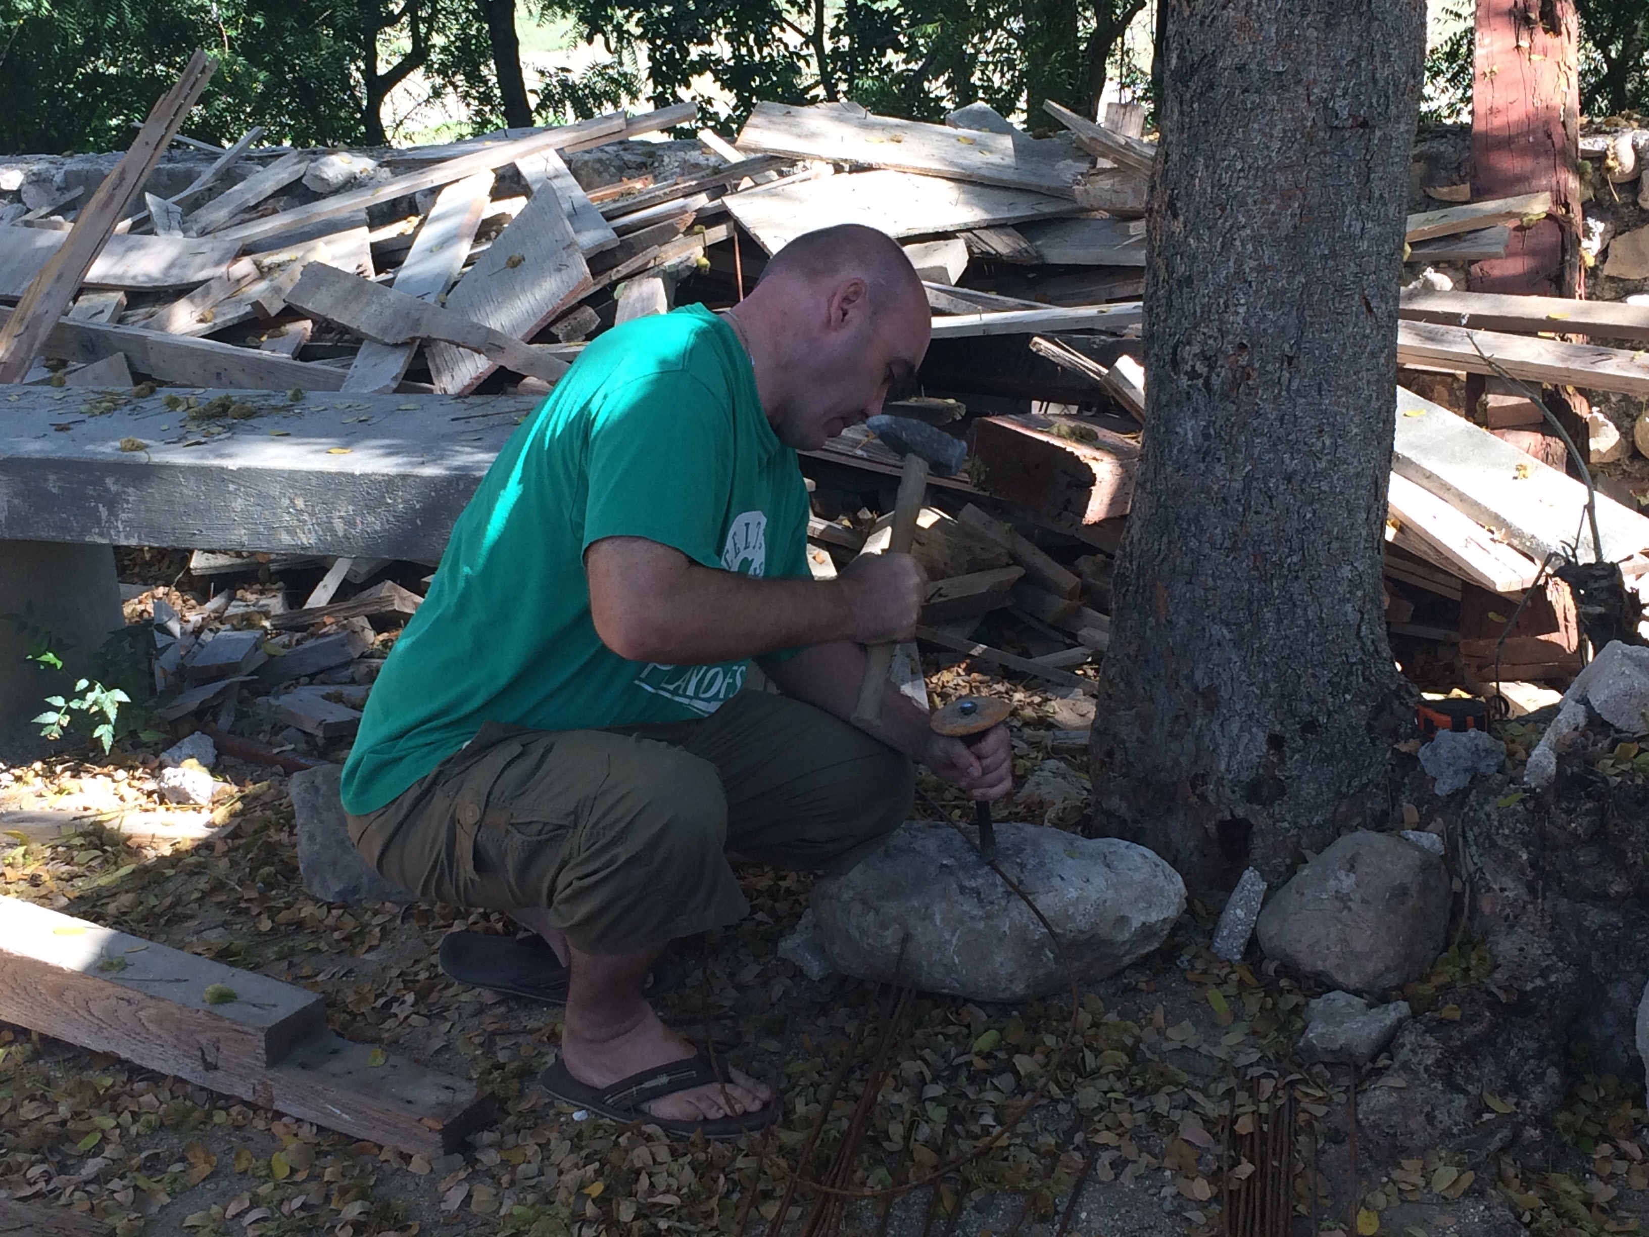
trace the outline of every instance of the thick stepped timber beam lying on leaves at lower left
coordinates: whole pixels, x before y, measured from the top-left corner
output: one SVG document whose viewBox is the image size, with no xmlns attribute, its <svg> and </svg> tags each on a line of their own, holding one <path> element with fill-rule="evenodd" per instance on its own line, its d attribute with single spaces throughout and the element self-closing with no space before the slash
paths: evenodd
<svg viewBox="0 0 1649 1237">
<path fill-rule="evenodd" d="M 0 897 L 0 1019 L 409 1153 L 485 1123 L 475 1085 L 327 1031 L 280 980 Z"/>
</svg>

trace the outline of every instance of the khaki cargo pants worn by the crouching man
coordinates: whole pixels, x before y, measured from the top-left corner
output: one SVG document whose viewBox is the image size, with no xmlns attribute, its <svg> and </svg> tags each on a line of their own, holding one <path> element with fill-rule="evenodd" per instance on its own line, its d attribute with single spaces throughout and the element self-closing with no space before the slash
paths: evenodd
<svg viewBox="0 0 1649 1237">
<path fill-rule="evenodd" d="M 425 901 L 546 907 L 584 953 L 724 927 L 734 851 L 846 871 L 910 810 L 899 752 L 811 704 L 745 691 L 709 717 L 604 731 L 488 722 L 364 816 L 356 849 Z"/>
</svg>

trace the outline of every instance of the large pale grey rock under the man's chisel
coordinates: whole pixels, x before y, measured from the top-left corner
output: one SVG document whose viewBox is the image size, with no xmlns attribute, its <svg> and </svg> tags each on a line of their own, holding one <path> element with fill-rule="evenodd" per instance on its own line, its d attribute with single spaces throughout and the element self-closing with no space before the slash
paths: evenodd
<svg viewBox="0 0 1649 1237">
<path fill-rule="evenodd" d="M 1179 872 L 1120 838 L 996 826 L 998 863 L 1059 935 L 1078 981 L 1144 957 L 1186 909 Z M 1069 991 L 1070 976 L 1031 909 L 951 826 L 905 821 L 844 876 L 813 886 L 836 970 L 978 1001 Z"/>
</svg>

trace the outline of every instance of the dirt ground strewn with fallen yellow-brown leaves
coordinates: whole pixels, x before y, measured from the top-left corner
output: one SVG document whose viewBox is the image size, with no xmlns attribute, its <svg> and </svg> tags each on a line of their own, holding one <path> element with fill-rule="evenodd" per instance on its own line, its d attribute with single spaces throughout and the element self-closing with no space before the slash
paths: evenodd
<svg viewBox="0 0 1649 1237">
<path fill-rule="evenodd" d="M 1087 757 L 1070 732 L 1092 704 L 928 670 L 940 703 L 963 691 L 1012 699 L 1024 790 L 1001 815 L 1080 828 Z M 1512 737 L 1527 749 L 1534 734 Z M 173 737 L 13 760 L 0 767 L 0 808 L 155 803 L 155 755 Z M 1576 1074 L 1565 1112 L 1496 1163 L 1448 1146 L 1375 1163 L 1364 1145 L 1354 1169 L 1351 1089 L 1380 1087 L 1382 1062 L 1355 1080 L 1301 1065 L 1293 1044 L 1316 990 L 1253 950 L 1248 963 L 1215 958 L 1215 912 L 1197 902 L 1161 950 L 1082 990 L 1075 1009 L 1069 996 L 1014 1008 L 917 998 L 866 1100 L 890 993 L 811 981 L 778 958 L 810 879 L 747 868 L 752 914 L 676 947 L 683 983 L 661 1011 L 780 1089 L 782 1125 L 706 1145 L 584 1118 L 536 1085 L 559 1009 L 463 988 L 435 963 L 449 930 L 508 924 L 447 905 L 315 902 L 298 879 L 284 775 L 233 759 L 214 772 L 234 792 L 221 836 L 196 848 L 132 846 L 99 828 L 53 846 L 8 840 L 5 892 L 323 993 L 338 1034 L 475 1079 L 500 1120 L 462 1151 L 407 1156 L 8 1028 L 0 1189 L 12 1199 L 89 1212 L 122 1235 L 760 1234 L 778 1230 L 783 1207 L 787 1232 L 1212 1237 L 1224 1183 L 1245 1178 L 1245 1131 L 1291 1095 L 1294 1234 L 1634 1232 L 1649 1214 L 1636 1077 Z M 963 813 L 923 775 L 915 815 Z M 1458 1018 L 1451 995 L 1491 975 L 1466 940 L 1405 995 L 1420 1018 Z M 831 1168 L 854 1123 L 848 1179 L 872 1197 L 816 1216 L 806 1181 Z"/>
</svg>

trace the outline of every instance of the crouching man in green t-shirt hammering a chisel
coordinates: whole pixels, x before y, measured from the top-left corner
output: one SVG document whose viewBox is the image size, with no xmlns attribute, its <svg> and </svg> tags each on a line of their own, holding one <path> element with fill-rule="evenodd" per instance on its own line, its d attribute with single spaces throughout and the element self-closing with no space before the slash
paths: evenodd
<svg viewBox="0 0 1649 1237">
<path fill-rule="evenodd" d="M 1011 785 L 1001 729 L 935 736 L 892 686 L 874 731 L 849 722 L 862 645 L 912 633 L 917 562 L 806 567 L 796 450 L 879 412 L 927 345 L 910 262 L 857 226 L 793 241 L 726 315 L 607 332 L 505 445 L 384 665 L 350 833 L 419 897 L 543 938 L 508 975 L 444 963 L 566 1001 L 557 1098 L 709 1136 L 775 1120 L 646 1001 L 673 938 L 745 914 L 727 853 L 844 871 L 905 818 L 912 762 Z M 783 694 L 739 691 L 752 658 Z"/>
</svg>

